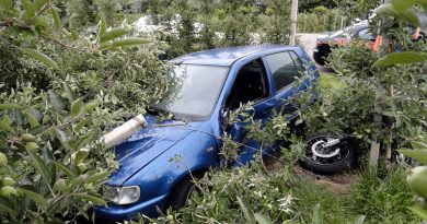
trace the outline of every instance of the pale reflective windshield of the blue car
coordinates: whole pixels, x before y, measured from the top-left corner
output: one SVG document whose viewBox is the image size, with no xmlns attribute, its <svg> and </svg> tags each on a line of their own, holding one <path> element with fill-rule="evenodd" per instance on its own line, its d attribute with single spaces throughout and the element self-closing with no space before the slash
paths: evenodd
<svg viewBox="0 0 427 224">
<path fill-rule="evenodd" d="M 217 66 L 174 66 L 169 72 L 174 78 L 171 93 L 152 108 L 188 121 L 208 119 L 217 104 L 228 70 L 228 67 Z"/>
</svg>

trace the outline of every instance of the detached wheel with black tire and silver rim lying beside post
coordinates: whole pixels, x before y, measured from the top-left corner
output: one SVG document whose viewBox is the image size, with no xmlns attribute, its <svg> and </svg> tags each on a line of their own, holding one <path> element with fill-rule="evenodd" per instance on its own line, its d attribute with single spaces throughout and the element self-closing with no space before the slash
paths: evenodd
<svg viewBox="0 0 427 224">
<path fill-rule="evenodd" d="M 316 174 L 333 175 L 348 172 L 355 167 L 357 162 L 355 145 L 351 140 L 345 140 L 335 146 L 324 149 L 322 143 L 331 135 L 314 135 L 308 138 L 305 143 L 305 155 L 300 160 L 300 164 Z"/>
</svg>

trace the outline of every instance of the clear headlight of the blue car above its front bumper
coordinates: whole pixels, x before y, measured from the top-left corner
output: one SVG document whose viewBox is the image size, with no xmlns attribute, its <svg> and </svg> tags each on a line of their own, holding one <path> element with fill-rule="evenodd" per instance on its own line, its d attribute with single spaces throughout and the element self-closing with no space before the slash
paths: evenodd
<svg viewBox="0 0 427 224">
<path fill-rule="evenodd" d="M 139 200 L 141 190 L 139 186 L 112 187 L 106 188 L 106 200 L 115 204 L 129 204 Z"/>
</svg>

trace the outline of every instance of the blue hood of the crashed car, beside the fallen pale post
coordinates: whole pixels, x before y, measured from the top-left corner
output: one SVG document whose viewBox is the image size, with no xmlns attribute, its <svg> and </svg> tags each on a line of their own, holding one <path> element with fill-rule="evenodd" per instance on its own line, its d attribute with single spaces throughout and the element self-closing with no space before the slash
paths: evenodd
<svg viewBox="0 0 427 224">
<path fill-rule="evenodd" d="M 203 123 L 176 120 L 159 122 L 154 116 L 145 117 L 148 126 L 115 148 L 119 168 L 109 176 L 108 185 L 122 186 L 134 174 Z"/>
</svg>

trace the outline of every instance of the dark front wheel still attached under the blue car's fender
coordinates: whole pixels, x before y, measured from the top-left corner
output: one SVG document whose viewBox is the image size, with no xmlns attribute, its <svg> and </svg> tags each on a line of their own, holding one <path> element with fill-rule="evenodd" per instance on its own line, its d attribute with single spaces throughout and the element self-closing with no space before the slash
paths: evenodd
<svg viewBox="0 0 427 224">
<path fill-rule="evenodd" d="M 173 188 L 169 197 L 169 207 L 178 210 L 188 204 L 188 199 L 193 193 L 198 192 L 196 185 L 191 177 L 185 177 Z"/>
</svg>

